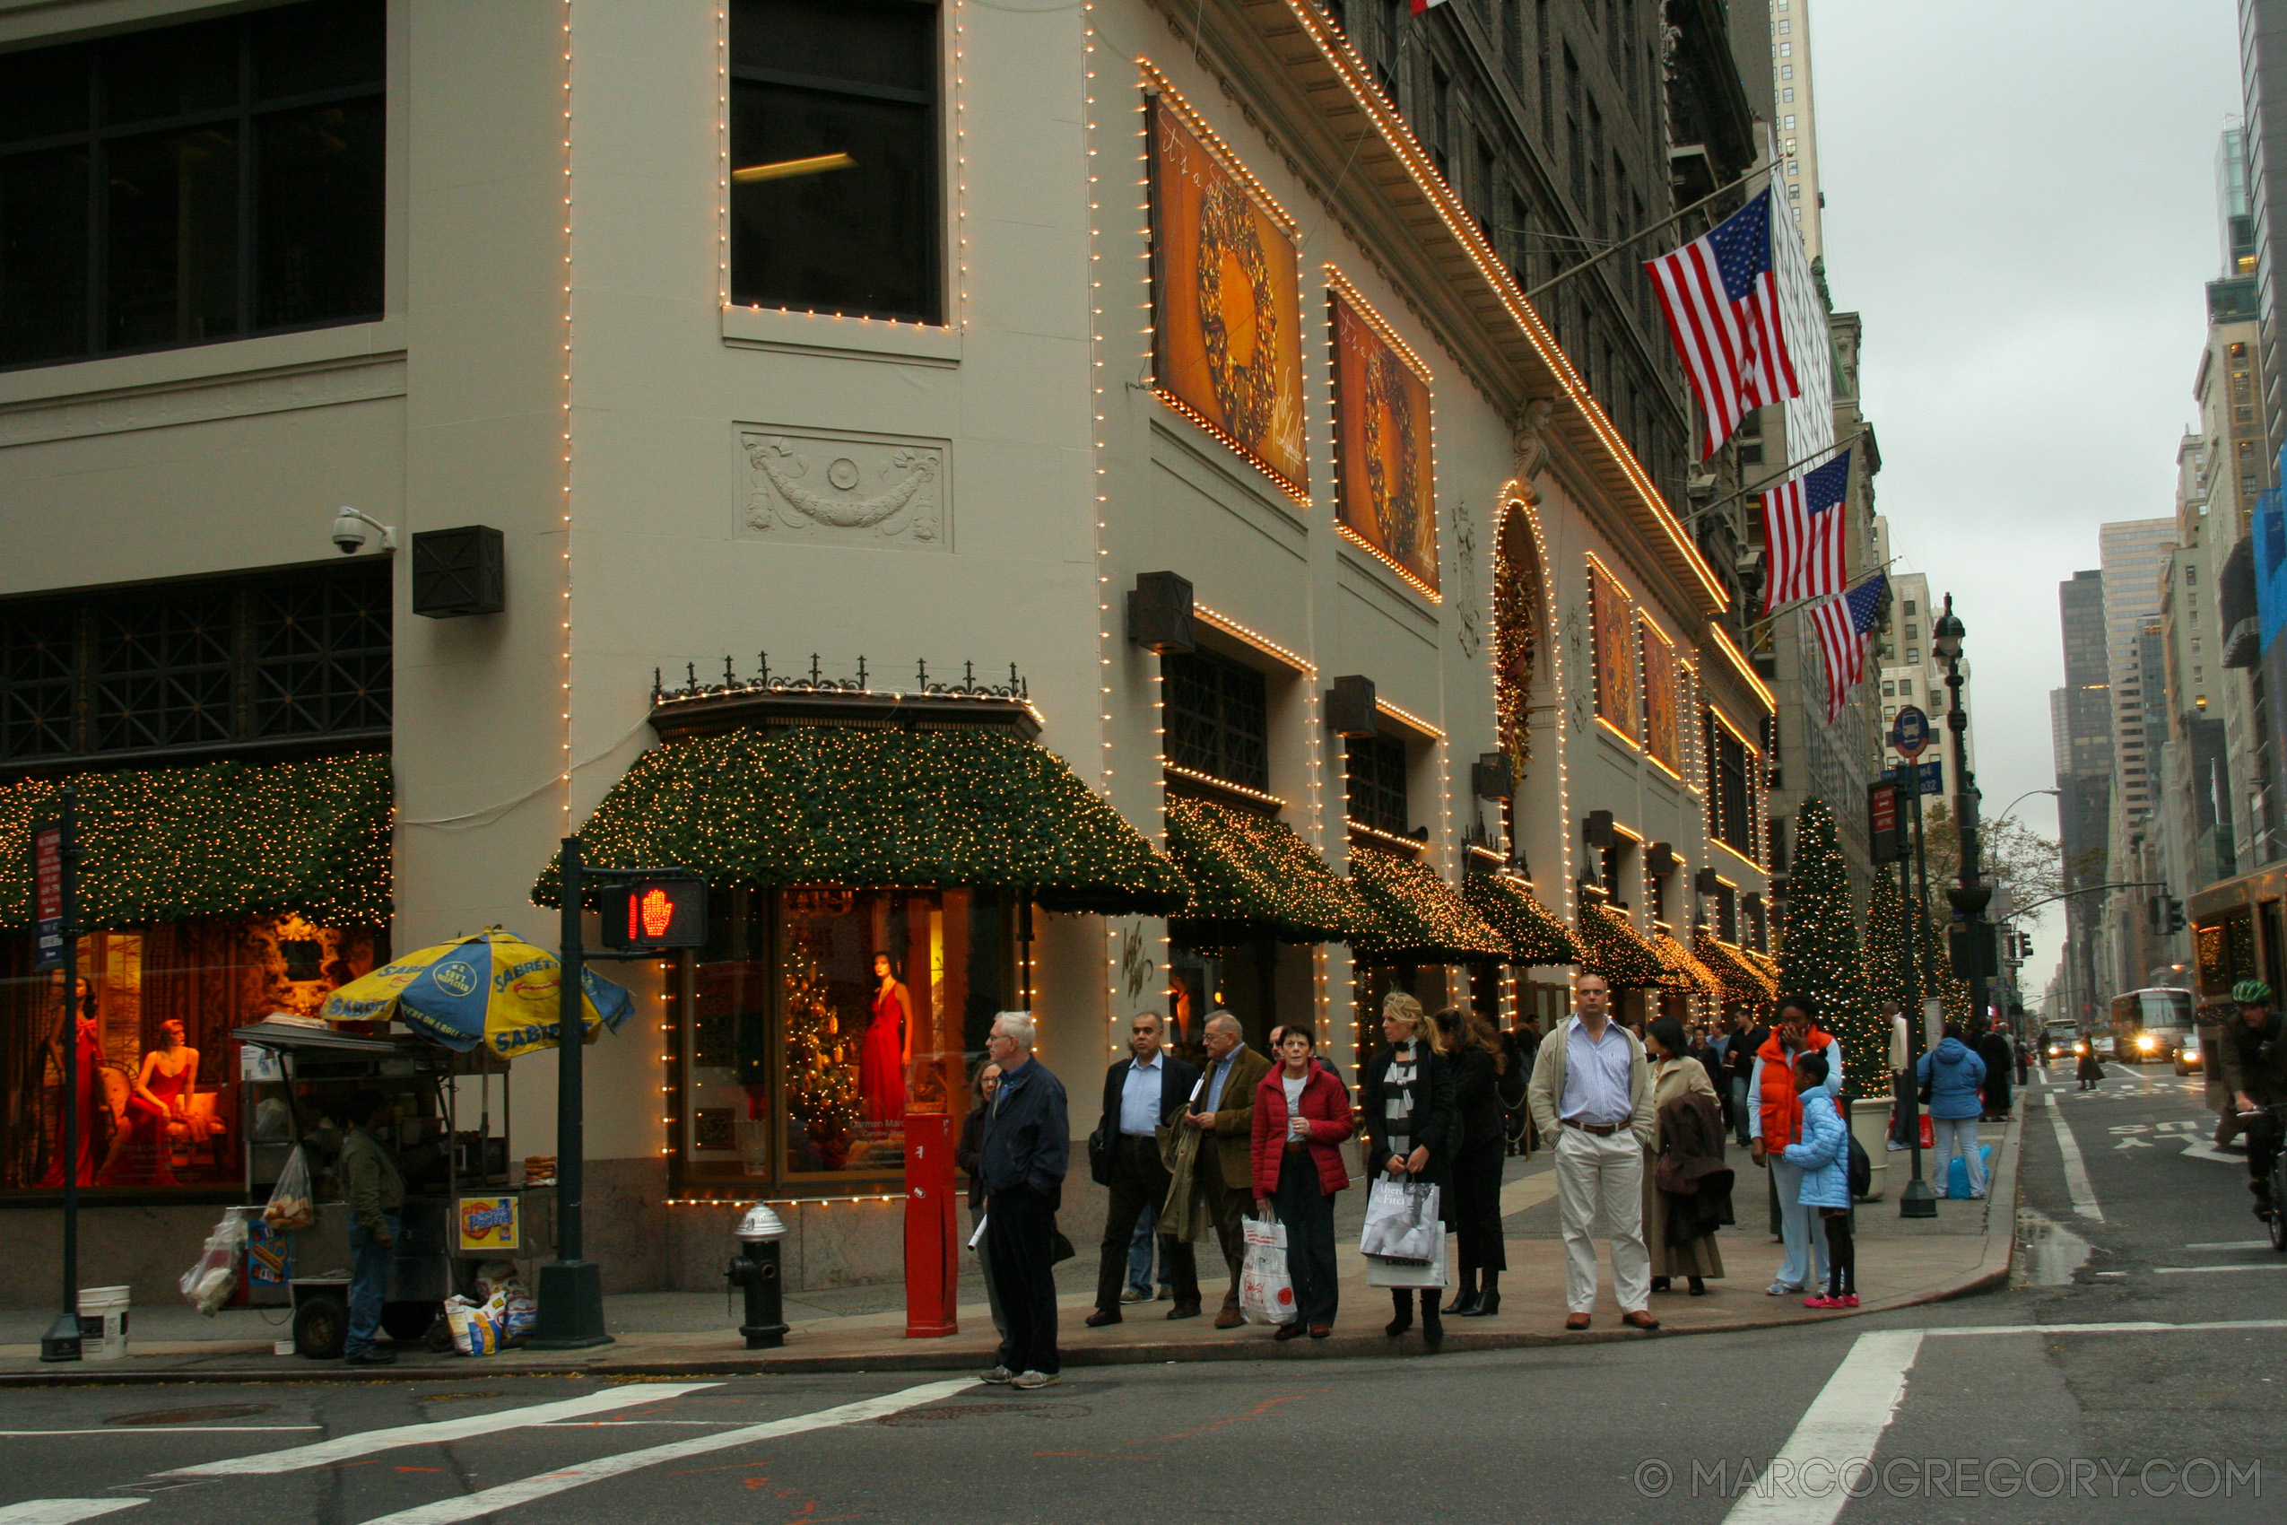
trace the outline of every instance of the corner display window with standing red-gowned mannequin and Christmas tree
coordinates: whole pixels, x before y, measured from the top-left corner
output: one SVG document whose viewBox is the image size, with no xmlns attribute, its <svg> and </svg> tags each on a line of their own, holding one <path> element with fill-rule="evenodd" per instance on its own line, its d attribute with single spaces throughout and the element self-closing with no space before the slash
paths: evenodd
<svg viewBox="0 0 2287 1525">
<path fill-rule="evenodd" d="M 995 892 L 720 892 L 670 992 L 679 1189 L 897 1182 L 906 1113 L 958 1123 L 993 1015 L 1018 1004 Z"/>
</svg>

